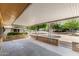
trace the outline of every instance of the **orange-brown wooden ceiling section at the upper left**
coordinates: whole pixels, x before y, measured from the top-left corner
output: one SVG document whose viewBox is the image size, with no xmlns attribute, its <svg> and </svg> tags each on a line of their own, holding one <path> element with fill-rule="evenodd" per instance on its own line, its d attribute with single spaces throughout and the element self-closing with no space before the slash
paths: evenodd
<svg viewBox="0 0 79 59">
<path fill-rule="evenodd" d="M 0 19 L 4 25 L 10 25 L 28 6 L 28 3 L 1 3 L 0 4 Z"/>
</svg>

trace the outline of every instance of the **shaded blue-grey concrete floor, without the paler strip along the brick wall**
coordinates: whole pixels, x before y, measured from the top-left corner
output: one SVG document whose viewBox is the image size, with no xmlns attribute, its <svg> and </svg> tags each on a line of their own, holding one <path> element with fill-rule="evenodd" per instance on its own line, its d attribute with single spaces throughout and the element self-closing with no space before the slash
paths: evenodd
<svg viewBox="0 0 79 59">
<path fill-rule="evenodd" d="M 60 56 L 28 39 L 3 42 L 0 47 L 0 56 Z"/>
</svg>

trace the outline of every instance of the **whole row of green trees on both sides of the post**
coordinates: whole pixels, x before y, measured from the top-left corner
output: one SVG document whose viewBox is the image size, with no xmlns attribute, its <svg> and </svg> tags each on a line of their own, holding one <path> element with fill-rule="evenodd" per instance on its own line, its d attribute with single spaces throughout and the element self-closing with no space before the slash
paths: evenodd
<svg viewBox="0 0 79 59">
<path fill-rule="evenodd" d="M 52 29 L 54 29 L 56 32 L 66 32 L 66 31 L 71 31 L 71 30 L 79 30 L 79 21 L 76 19 L 71 19 L 68 20 L 64 23 L 55 23 L 51 24 Z M 42 23 L 42 24 L 36 24 L 32 26 L 27 27 L 29 30 L 39 30 L 39 29 L 44 29 L 48 30 L 49 26 L 47 23 Z"/>
</svg>

